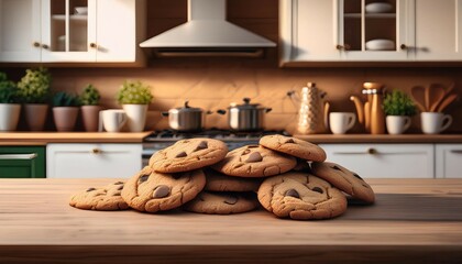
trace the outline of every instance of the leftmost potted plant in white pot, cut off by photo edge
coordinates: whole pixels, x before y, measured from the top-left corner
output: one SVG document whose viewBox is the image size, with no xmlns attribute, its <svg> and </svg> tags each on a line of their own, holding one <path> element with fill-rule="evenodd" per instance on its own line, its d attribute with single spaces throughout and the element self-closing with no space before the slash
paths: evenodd
<svg viewBox="0 0 462 264">
<path fill-rule="evenodd" d="M 0 131 L 16 130 L 20 112 L 18 87 L 0 72 Z"/>
</svg>

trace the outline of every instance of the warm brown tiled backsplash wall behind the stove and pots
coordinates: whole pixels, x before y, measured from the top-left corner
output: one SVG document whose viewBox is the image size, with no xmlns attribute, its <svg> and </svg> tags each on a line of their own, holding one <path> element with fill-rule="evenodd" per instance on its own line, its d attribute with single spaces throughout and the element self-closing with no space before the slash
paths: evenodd
<svg viewBox="0 0 462 264">
<path fill-rule="evenodd" d="M 161 64 L 162 65 L 162 64 Z M 189 100 L 193 107 L 216 111 L 231 102 L 240 103 L 249 97 L 252 102 L 273 108 L 265 117 L 267 129 L 288 129 L 296 122 L 298 107 L 286 92 L 299 91 L 307 81 L 314 81 L 328 94 L 332 111 L 355 111 L 351 95 L 361 95 L 364 81 L 383 82 L 388 89 L 406 92 L 415 85 L 431 82 L 450 85 L 462 95 L 460 68 L 302 68 L 245 67 L 239 63 L 195 63 L 178 66 L 163 65 L 147 68 L 63 68 L 52 69 L 54 90 L 79 92 L 86 84 L 94 84 L 102 95 L 105 108 L 120 108 L 116 94 L 125 79 L 142 80 L 152 87 L 154 100 L 150 106 L 147 129 L 165 129 L 166 118 L 161 111 L 182 107 Z M 462 107 L 454 102 L 447 109 L 454 118 L 449 132 L 462 131 Z M 209 114 L 207 127 L 227 128 L 227 116 Z M 413 119 L 411 130 L 419 132 L 419 118 Z M 362 132 L 356 124 L 353 132 Z"/>
</svg>

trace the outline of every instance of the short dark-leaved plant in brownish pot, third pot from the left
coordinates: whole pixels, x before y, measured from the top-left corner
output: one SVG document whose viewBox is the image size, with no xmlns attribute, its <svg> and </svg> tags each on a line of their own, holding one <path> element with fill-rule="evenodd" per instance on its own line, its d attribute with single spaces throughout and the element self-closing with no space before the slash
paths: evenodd
<svg viewBox="0 0 462 264">
<path fill-rule="evenodd" d="M 53 96 L 53 119 L 59 132 L 73 131 L 80 106 L 79 97 L 66 91 L 58 91 Z"/>
</svg>

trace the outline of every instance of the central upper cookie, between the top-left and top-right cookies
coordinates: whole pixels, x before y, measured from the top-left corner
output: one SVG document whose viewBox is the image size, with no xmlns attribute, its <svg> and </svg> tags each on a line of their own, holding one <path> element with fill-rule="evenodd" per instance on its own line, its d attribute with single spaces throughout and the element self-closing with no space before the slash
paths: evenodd
<svg viewBox="0 0 462 264">
<path fill-rule="evenodd" d="M 290 170 L 297 165 L 295 157 L 261 145 L 245 145 L 227 154 L 211 167 L 238 177 L 267 177 Z"/>
</svg>

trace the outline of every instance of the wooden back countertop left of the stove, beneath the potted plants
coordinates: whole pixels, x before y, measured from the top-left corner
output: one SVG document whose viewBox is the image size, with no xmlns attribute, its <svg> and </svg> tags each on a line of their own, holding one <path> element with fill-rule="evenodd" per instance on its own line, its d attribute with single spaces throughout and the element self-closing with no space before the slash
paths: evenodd
<svg viewBox="0 0 462 264">
<path fill-rule="evenodd" d="M 142 143 L 145 132 L 8 132 L 0 133 L 0 145 L 43 145 L 46 143 Z"/>
</svg>

